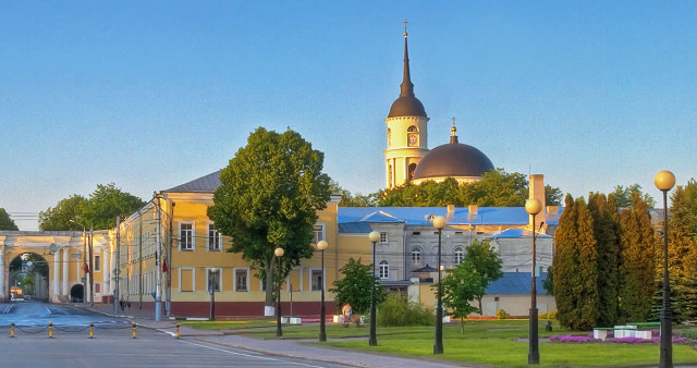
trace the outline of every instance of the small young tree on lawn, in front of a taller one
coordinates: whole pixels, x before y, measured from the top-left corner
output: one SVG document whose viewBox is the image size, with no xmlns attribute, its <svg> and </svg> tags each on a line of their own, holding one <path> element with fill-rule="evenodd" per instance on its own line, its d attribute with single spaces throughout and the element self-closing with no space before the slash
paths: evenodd
<svg viewBox="0 0 697 368">
<path fill-rule="evenodd" d="M 479 302 L 479 308 L 473 306 L 470 302 L 480 299 L 481 290 L 486 290 L 484 281 L 485 278 L 477 272 L 474 262 L 466 261 L 450 270 L 441 280 L 443 306 L 455 318 L 460 318 L 462 333 L 465 333 L 465 318 L 469 314 L 481 312 L 481 302 Z M 438 285 L 433 285 L 433 289 L 437 287 Z"/>
</svg>

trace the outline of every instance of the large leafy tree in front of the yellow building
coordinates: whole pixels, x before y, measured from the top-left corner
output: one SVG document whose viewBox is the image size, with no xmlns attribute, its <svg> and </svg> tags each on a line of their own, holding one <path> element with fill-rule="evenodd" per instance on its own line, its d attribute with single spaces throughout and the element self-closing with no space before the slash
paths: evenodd
<svg viewBox="0 0 697 368">
<path fill-rule="evenodd" d="M 258 127 L 220 171 L 208 217 L 232 237 L 229 252 L 242 257 L 266 282 L 266 305 L 273 304 L 273 250 L 284 249 L 280 275 L 313 255 L 310 243 L 317 210 L 327 207 L 329 176 L 325 155 L 291 131 Z"/>
</svg>

